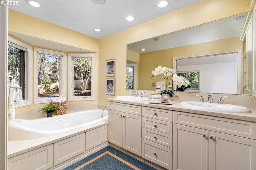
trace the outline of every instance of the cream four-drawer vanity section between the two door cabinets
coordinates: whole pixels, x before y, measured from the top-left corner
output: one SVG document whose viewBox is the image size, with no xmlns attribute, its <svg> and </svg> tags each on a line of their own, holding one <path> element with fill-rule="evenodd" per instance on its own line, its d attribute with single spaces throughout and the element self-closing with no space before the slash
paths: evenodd
<svg viewBox="0 0 256 170">
<path fill-rule="evenodd" d="M 142 107 L 142 158 L 172 169 L 172 111 Z"/>
</svg>

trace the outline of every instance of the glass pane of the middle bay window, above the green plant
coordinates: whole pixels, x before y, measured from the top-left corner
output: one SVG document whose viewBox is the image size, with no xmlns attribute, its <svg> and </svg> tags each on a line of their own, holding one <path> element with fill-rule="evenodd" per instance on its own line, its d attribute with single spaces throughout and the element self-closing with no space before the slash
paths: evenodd
<svg viewBox="0 0 256 170">
<path fill-rule="evenodd" d="M 60 96 L 60 57 L 38 53 L 38 98 Z"/>
</svg>

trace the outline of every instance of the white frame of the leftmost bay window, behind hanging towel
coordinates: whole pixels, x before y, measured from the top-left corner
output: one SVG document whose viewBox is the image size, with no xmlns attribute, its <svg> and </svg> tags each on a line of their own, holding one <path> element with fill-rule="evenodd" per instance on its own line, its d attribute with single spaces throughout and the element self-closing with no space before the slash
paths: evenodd
<svg viewBox="0 0 256 170">
<path fill-rule="evenodd" d="M 21 49 L 25 51 L 24 56 L 24 63 L 25 63 L 25 79 L 24 79 L 24 95 L 25 100 L 23 100 L 23 106 L 15 106 L 15 108 L 18 107 L 24 107 L 29 106 L 32 104 L 32 46 L 19 41 L 17 39 L 14 39 L 13 37 L 8 36 L 8 45 L 11 45 L 13 47 L 16 47 L 18 49 Z"/>
</svg>

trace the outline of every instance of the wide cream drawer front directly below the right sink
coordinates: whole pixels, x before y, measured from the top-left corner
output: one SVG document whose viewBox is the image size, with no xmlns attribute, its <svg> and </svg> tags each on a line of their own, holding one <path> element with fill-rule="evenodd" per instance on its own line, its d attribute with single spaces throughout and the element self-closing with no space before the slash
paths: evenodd
<svg viewBox="0 0 256 170">
<path fill-rule="evenodd" d="M 173 111 L 173 122 L 181 125 L 188 125 L 211 131 L 227 133 L 230 135 L 256 139 L 255 122 L 179 111 Z"/>
</svg>

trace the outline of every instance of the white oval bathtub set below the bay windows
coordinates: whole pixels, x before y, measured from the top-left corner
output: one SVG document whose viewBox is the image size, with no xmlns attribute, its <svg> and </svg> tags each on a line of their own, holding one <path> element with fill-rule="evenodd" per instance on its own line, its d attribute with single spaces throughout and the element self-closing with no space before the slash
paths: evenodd
<svg viewBox="0 0 256 170">
<path fill-rule="evenodd" d="M 12 119 L 8 121 L 9 140 L 47 137 L 76 128 L 108 121 L 108 111 L 101 109 L 79 111 L 42 119 Z"/>
</svg>

